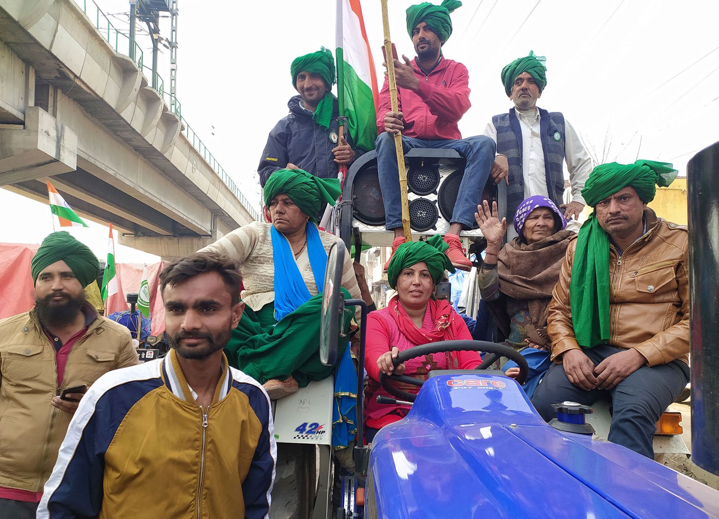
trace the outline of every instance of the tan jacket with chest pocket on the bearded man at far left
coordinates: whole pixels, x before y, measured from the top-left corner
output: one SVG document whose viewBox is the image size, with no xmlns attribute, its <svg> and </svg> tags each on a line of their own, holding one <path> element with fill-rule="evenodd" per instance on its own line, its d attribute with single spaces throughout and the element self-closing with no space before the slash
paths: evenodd
<svg viewBox="0 0 719 519">
<path fill-rule="evenodd" d="M 0 487 L 40 492 L 50 477 L 72 418 L 50 406 L 52 397 L 138 363 L 129 330 L 96 317 L 70 350 L 58 387 L 55 347 L 35 309 L 0 320 Z"/>
</svg>

